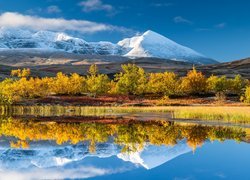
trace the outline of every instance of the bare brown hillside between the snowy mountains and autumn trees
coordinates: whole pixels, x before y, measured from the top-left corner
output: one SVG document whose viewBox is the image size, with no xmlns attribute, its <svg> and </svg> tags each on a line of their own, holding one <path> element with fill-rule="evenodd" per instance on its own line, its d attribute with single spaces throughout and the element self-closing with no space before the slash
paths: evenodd
<svg viewBox="0 0 250 180">
<path fill-rule="evenodd" d="M 11 69 L 23 67 L 31 68 L 34 76 L 55 76 L 59 71 L 66 74 L 77 72 L 84 75 L 93 63 L 98 64 L 101 73 L 110 76 L 121 70 L 121 64 L 127 63 L 135 63 L 143 67 L 147 72 L 172 71 L 180 76 L 186 75 L 187 71 L 193 67 L 193 64 L 189 62 L 153 57 L 130 59 L 122 56 L 83 55 L 39 49 L 30 51 L 2 49 L 0 50 L 0 77 L 8 77 Z M 196 68 L 205 75 L 214 74 L 233 77 L 236 74 L 241 74 L 243 77 L 250 79 L 250 58 L 214 65 L 196 65 Z"/>
</svg>

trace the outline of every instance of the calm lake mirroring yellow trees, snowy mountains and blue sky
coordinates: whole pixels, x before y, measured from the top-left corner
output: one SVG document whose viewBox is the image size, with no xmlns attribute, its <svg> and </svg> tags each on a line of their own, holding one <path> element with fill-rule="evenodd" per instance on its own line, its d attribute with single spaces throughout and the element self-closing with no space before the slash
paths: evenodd
<svg viewBox="0 0 250 180">
<path fill-rule="evenodd" d="M 0 179 L 250 179 L 247 125 L 2 111 Z"/>
</svg>

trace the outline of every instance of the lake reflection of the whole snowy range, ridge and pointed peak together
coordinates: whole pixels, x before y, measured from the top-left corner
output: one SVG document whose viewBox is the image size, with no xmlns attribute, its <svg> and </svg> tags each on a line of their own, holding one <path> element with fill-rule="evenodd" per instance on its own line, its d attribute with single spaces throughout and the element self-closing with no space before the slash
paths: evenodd
<svg viewBox="0 0 250 180">
<path fill-rule="evenodd" d="M 95 153 L 89 152 L 88 143 L 59 146 L 46 141 L 32 143 L 29 149 L 10 149 L 6 141 L 1 141 L 0 146 L 1 170 L 51 168 L 79 162 L 88 157 L 109 158 L 112 156 L 146 169 L 152 169 L 192 150 L 185 141 L 180 141 L 175 146 L 148 144 L 140 151 L 124 153 L 121 153 L 121 146 L 114 143 L 97 144 Z"/>
</svg>

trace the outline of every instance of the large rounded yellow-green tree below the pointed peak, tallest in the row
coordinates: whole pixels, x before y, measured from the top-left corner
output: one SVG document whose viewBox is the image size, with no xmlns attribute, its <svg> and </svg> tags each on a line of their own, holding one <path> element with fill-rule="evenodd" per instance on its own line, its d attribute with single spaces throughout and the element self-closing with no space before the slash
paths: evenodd
<svg viewBox="0 0 250 180">
<path fill-rule="evenodd" d="M 146 73 L 135 64 L 122 65 L 122 72 L 115 75 L 116 92 L 141 95 L 146 91 Z"/>
</svg>

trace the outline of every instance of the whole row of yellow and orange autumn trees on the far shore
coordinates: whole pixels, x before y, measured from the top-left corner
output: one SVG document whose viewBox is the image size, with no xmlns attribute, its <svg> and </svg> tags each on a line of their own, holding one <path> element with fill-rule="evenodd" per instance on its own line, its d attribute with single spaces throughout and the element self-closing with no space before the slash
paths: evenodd
<svg viewBox="0 0 250 180">
<path fill-rule="evenodd" d="M 30 69 L 11 71 L 11 78 L 0 82 L 0 100 L 13 103 L 22 99 L 41 98 L 49 95 L 156 95 L 189 96 L 215 94 L 223 97 L 234 94 L 250 103 L 250 85 L 247 79 L 236 75 L 206 77 L 193 67 L 186 76 L 174 72 L 146 73 L 135 64 L 124 64 L 122 71 L 110 79 L 100 74 L 93 64 L 87 76 L 77 73 L 66 75 L 58 72 L 55 77 L 31 77 Z"/>
</svg>

